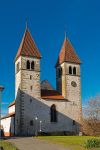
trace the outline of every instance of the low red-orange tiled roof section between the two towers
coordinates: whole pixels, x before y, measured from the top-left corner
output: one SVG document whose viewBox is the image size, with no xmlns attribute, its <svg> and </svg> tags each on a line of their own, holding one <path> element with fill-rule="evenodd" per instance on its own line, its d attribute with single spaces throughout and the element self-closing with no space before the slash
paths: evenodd
<svg viewBox="0 0 100 150">
<path fill-rule="evenodd" d="M 56 90 L 41 90 L 42 99 L 50 100 L 66 100 L 58 91 Z"/>
</svg>

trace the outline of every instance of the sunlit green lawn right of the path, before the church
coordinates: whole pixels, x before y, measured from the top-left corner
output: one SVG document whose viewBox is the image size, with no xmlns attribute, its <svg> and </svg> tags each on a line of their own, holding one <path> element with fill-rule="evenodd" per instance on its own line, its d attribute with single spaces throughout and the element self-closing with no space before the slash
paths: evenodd
<svg viewBox="0 0 100 150">
<path fill-rule="evenodd" d="M 39 139 L 62 144 L 63 146 L 68 147 L 69 150 L 86 150 L 83 147 L 83 145 L 84 142 L 90 138 L 94 138 L 94 137 L 92 136 L 41 136 L 39 137 Z M 93 148 L 92 150 L 100 150 L 100 148 Z"/>
</svg>

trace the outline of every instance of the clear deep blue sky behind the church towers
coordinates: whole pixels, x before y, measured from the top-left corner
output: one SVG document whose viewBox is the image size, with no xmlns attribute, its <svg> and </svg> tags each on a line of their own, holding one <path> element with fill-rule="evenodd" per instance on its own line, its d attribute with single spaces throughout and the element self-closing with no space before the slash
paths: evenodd
<svg viewBox="0 0 100 150">
<path fill-rule="evenodd" d="M 55 87 L 55 63 L 67 32 L 82 66 L 82 101 L 100 92 L 99 0 L 0 1 L 0 84 L 3 102 L 14 100 L 14 58 L 25 31 L 26 19 L 42 54 L 41 80 Z M 5 113 L 7 105 L 2 105 Z"/>
</svg>

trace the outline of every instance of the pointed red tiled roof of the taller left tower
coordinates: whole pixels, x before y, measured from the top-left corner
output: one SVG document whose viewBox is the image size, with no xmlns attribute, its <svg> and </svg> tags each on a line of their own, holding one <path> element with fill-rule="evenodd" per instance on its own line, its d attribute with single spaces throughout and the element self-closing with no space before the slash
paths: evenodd
<svg viewBox="0 0 100 150">
<path fill-rule="evenodd" d="M 19 56 L 30 56 L 41 58 L 41 54 L 29 32 L 29 29 L 26 29 L 24 33 L 15 61 Z"/>
</svg>

